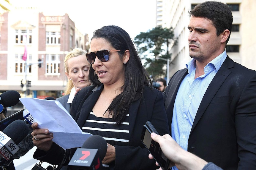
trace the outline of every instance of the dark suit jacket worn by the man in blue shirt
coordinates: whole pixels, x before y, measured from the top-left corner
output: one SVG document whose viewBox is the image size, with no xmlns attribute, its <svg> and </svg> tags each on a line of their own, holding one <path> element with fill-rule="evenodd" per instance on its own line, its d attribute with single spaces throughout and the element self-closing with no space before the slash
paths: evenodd
<svg viewBox="0 0 256 170">
<path fill-rule="evenodd" d="M 173 106 L 187 68 L 176 72 L 163 93 L 171 132 Z M 188 151 L 222 169 L 256 169 L 256 71 L 228 56 L 197 110 Z"/>
</svg>

